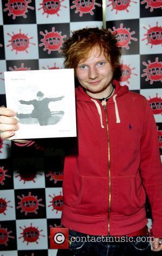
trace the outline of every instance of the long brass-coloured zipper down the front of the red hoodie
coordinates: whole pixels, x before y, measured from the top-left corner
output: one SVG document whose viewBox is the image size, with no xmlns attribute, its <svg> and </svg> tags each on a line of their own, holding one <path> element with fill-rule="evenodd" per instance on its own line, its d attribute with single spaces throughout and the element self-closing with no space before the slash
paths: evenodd
<svg viewBox="0 0 162 256">
<path fill-rule="evenodd" d="M 104 105 L 104 111 L 106 116 L 106 132 L 107 132 L 107 143 L 108 143 L 108 166 L 109 166 L 109 210 L 108 210 L 108 235 L 110 235 L 110 212 L 111 212 L 111 170 L 110 170 L 110 138 L 109 138 L 109 126 L 108 126 L 108 115 L 107 107 Z"/>
</svg>

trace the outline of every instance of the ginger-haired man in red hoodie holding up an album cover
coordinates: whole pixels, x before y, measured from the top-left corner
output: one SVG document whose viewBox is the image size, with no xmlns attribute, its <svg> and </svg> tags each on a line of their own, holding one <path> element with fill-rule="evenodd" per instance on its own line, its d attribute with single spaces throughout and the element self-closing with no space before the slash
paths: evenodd
<svg viewBox="0 0 162 256">
<path fill-rule="evenodd" d="M 110 31 L 74 31 L 63 53 L 65 67 L 75 69 L 80 86 L 78 143 L 65 157 L 63 181 L 62 224 L 70 228 L 70 250 L 58 250 L 57 255 L 150 256 L 149 242 L 136 237 L 147 236 L 146 191 L 154 251 L 162 250 L 162 172 L 152 110 L 143 96 L 113 80 L 120 48 Z M 18 129 L 17 121 L 10 117 L 15 115 L 11 110 L 1 108 L 0 114 L 6 139 Z M 75 241 L 86 235 L 133 240 Z"/>
</svg>

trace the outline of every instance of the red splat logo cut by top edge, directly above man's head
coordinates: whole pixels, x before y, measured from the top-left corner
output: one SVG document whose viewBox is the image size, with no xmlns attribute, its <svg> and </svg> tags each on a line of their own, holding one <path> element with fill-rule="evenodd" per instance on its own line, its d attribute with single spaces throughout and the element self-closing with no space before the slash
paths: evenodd
<svg viewBox="0 0 162 256">
<path fill-rule="evenodd" d="M 79 16 L 82 17 L 83 14 L 90 14 L 90 15 L 93 15 L 94 12 L 93 10 L 95 10 L 95 5 L 96 6 L 102 6 L 101 4 L 99 3 L 96 3 L 96 0 L 75 0 L 75 1 L 72 1 L 72 6 L 70 7 L 70 9 L 74 9 L 76 8 L 75 10 L 75 14 L 78 14 L 79 12 Z"/>
</svg>

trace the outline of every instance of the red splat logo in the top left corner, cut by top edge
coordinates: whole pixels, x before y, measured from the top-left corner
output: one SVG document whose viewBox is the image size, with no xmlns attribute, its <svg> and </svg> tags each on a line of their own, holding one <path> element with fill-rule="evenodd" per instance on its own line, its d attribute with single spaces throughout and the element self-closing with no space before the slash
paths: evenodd
<svg viewBox="0 0 162 256">
<path fill-rule="evenodd" d="M 13 19 L 19 16 L 26 18 L 26 12 L 28 12 L 28 9 L 35 9 L 32 6 L 29 6 L 31 2 L 31 0 L 8 0 L 8 3 L 5 4 L 7 8 L 5 8 L 4 11 L 9 11 L 8 16 L 13 15 Z"/>
</svg>

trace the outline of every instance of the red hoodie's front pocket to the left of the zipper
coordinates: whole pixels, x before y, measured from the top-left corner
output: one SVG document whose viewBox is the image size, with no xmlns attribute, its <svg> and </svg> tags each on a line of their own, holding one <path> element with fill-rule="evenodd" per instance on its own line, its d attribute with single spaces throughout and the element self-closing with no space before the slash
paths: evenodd
<svg viewBox="0 0 162 256">
<path fill-rule="evenodd" d="M 78 198 L 73 202 L 73 212 L 86 215 L 100 215 L 108 208 L 107 177 L 79 176 Z"/>
</svg>

